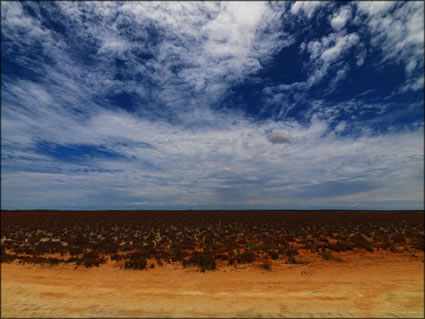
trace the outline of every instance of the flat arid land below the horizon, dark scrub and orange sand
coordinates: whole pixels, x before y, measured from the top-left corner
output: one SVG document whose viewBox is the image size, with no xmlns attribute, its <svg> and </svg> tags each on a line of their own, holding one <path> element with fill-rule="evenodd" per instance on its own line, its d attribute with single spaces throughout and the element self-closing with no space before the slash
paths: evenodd
<svg viewBox="0 0 425 319">
<path fill-rule="evenodd" d="M 2 317 L 423 317 L 423 212 L 2 211 Z"/>
</svg>

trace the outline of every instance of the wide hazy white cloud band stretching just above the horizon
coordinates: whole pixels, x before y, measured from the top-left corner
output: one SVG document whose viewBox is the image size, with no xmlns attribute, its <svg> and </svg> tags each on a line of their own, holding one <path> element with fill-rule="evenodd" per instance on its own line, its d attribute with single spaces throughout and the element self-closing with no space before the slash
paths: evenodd
<svg viewBox="0 0 425 319">
<path fill-rule="evenodd" d="M 230 207 L 238 201 L 257 197 L 264 203 L 281 207 L 291 203 L 291 197 L 301 196 L 304 185 L 356 179 L 379 184 L 380 188 L 372 192 L 381 199 L 391 199 L 394 188 L 398 189 L 399 199 L 423 198 L 419 169 L 423 162 L 423 148 L 420 147 L 423 127 L 390 135 L 338 137 L 329 132 L 326 121 L 318 119 L 303 127 L 288 121 L 259 124 L 236 115 L 214 113 L 211 121 L 221 123 L 220 128 L 210 126 L 192 131 L 165 123 L 135 120 L 125 113 L 104 112 L 85 125 L 78 125 L 75 118 L 63 119 L 64 122 L 52 128 L 55 134 L 49 134 L 51 128 L 44 125 L 50 118 L 34 127 L 37 121 L 27 120 L 19 125 L 22 129 L 33 127 L 26 134 L 40 133 L 52 143 L 66 145 L 84 141 L 103 145 L 126 159 L 88 159 L 80 168 L 97 170 L 75 174 L 78 165 L 37 158 L 36 154 L 26 151 L 25 157 L 31 159 L 32 166 L 37 165 L 41 171 L 56 167 L 60 173 L 5 172 L 2 183 L 7 187 L 3 187 L 6 192 L 3 198 L 14 198 L 17 192 L 25 191 L 28 198 L 39 196 L 48 203 L 42 193 L 45 185 L 50 185 L 55 188 L 55 198 L 72 198 L 83 203 L 89 194 L 101 196 L 107 191 L 122 191 L 124 183 L 126 194 L 131 197 L 126 198 L 127 203 L 152 199 L 144 207 L 155 207 L 162 201 L 168 202 L 170 207 L 180 207 L 182 203 L 195 207 L 221 203 Z M 72 135 L 62 129 L 65 123 L 66 127 L 75 128 Z M 334 131 L 341 132 L 344 127 L 345 123 L 341 122 Z M 8 128 L 5 130 L 10 136 Z M 274 135 L 267 134 L 270 131 Z M 275 137 L 279 143 L 282 137 L 291 143 L 285 143 L 285 148 L 276 147 L 267 141 Z M 24 160 L 17 158 L 19 152 L 13 154 L 3 160 L 3 165 L 13 167 L 14 163 L 18 165 L 16 161 Z M 284 181 L 290 181 L 290 185 Z M 233 187 L 232 183 L 236 182 L 238 186 Z M 239 197 L 225 196 L 223 187 L 230 194 L 238 190 Z M 303 196 L 308 195 L 304 193 Z M 364 194 L 347 195 L 346 200 L 352 202 L 364 198 L 362 196 Z M 305 200 L 309 202 L 308 198 Z M 344 197 L 339 201 L 344 203 Z M 12 205 L 11 201 L 8 203 Z"/>
</svg>

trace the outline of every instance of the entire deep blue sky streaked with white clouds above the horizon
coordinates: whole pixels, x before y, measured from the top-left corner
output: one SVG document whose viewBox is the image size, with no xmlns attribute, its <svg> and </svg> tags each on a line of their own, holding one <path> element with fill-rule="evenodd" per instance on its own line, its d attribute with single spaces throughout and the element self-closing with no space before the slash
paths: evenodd
<svg viewBox="0 0 425 319">
<path fill-rule="evenodd" d="M 424 209 L 424 3 L 1 2 L 2 209 Z"/>
</svg>

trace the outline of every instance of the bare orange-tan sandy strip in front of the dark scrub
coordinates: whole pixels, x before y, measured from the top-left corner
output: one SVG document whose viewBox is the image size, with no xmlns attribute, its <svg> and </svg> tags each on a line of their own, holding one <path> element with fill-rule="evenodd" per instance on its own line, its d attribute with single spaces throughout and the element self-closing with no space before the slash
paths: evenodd
<svg viewBox="0 0 425 319">
<path fill-rule="evenodd" d="M 423 254 L 196 268 L 2 264 L 2 317 L 424 317 Z"/>
</svg>

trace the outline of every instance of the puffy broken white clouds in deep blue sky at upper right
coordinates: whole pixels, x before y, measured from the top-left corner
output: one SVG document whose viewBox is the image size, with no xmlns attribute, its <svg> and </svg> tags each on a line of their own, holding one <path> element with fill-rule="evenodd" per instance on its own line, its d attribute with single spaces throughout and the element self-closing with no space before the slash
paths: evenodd
<svg viewBox="0 0 425 319">
<path fill-rule="evenodd" d="M 303 3 L 295 3 L 290 11 L 299 14 Z M 342 6 L 329 18 L 336 32 L 313 37 L 300 45 L 300 53 L 307 53 L 310 59 L 304 65 L 307 79 L 264 90 L 267 95 L 264 110 L 278 109 L 274 112 L 276 118 L 284 117 L 303 103 L 309 89 L 328 79 L 330 83 L 323 94 L 332 93 L 347 77 L 348 70 L 364 66 L 374 48 L 382 52 L 382 66 L 394 62 L 405 65 L 406 82 L 395 93 L 423 89 L 423 3 L 359 2 L 356 5 L 357 14 L 352 19 L 355 11 L 351 5 Z M 345 25 L 349 20 L 360 26 L 358 32 L 347 33 Z M 370 43 L 366 34 L 371 35 Z M 350 53 L 354 53 L 355 64 L 347 59 Z"/>
</svg>

